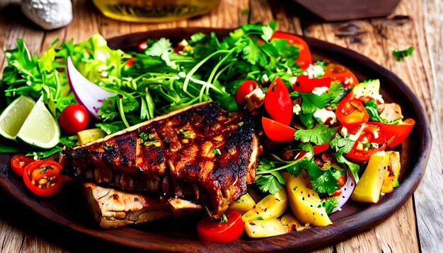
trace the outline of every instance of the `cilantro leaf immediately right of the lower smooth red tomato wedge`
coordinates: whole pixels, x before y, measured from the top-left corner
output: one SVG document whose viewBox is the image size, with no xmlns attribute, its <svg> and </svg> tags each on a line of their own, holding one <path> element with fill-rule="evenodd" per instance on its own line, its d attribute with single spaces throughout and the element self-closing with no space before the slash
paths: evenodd
<svg viewBox="0 0 443 253">
<path fill-rule="evenodd" d="M 323 124 L 317 124 L 313 129 L 300 129 L 295 131 L 294 139 L 302 142 L 312 142 L 316 145 L 322 145 L 330 141 L 337 131 L 336 127 L 327 127 Z"/>
</svg>

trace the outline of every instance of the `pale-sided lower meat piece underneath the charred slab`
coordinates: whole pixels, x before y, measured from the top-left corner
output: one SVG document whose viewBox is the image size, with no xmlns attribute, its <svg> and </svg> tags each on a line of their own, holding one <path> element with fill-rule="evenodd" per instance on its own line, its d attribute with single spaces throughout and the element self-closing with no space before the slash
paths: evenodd
<svg viewBox="0 0 443 253">
<path fill-rule="evenodd" d="M 83 184 L 94 218 L 102 228 L 147 223 L 171 216 L 171 207 L 159 198 L 100 187 L 91 182 Z"/>
</svg>

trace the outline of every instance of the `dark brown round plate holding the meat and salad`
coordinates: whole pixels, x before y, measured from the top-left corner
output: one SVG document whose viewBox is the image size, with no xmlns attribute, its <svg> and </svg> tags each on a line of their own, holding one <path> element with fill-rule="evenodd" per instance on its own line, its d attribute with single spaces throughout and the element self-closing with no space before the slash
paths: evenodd
<svg viewBox="0 0 443 253">
<path fill-rule="evenodd" d="M 196 32 L 210 33 L 212 31 L 221 37 L 229 34 L 229 30 L 208 28 L 156 30 L 115 37 L 109 40 L 109 45 L 113 48 L 134 49 L 138 42 L 146 40 L 147 37 L 169 37 L 171 40 L 178 41 L 183 37 L 190 37 Z M 0 155 L 0 185 L 22 204 L 55 223 L 65 225 L 86 235 L 141 249 L 180 252 L 312 250 L 331 245 L 372 228 L 400 208 L 418 187 L 430 154 L 431 139 L 425 119 L 426 113 L 410 88 L 391 71 L 349 49 L 309 37 L 305 39 L 316 58 L 330 59 L 348 66 L 356 73 L 359 80 L 379 78 L 382 84 L 381 93 L 385 100 L 397 102 L 403 108 L 405 117 L 413 118 L 416 121 L 410 136 L 398 148 L 403 154 L 401 155 L 401 185 L 393 193 L 382 197 L 378 204 L 348 203 L 342 211 L 334 213 L 330 217 L 334 224 L 323 228 L 311 228 L 299 233 L 289 233 L 261 240 L 249 240 L 242 237 L 236 242 L 218 244 L 200 242 L 197 239 L 194 228 L 199 217 L 196 215 L 179 219 L 157 220 L 153 223 L 126 228 L 101 229 L 93 220 L 77 184 L 67 185 L 60 194 L 52 198 L 39 198 L 30 194 L 22 180 L 9 170 L 8 161 L 11 155 Z"/>
</svg>

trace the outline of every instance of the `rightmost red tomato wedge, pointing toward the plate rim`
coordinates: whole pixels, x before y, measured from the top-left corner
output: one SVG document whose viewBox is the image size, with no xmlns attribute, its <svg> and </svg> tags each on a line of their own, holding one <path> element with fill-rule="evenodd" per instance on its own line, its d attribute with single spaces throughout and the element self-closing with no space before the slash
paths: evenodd
<svg viewBox="0 0 443 253">
<path fill-rule="evenodd" d="M 386 141 L 388 141 L 388 148 L 395 148 L 408 137 L 410 131 L 413 129 L 415 120 L 405 119 L 400 124 L 386 124 L 381 122 L 371 122 L 376 124 L 386 134 Z"/>
</svg>

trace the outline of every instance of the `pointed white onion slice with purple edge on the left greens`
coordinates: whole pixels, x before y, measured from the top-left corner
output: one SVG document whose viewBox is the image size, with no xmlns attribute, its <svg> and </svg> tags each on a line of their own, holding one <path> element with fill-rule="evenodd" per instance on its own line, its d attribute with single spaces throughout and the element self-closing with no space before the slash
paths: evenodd
<svg viewBox="0 0 443 253">
<path fill-rule="evenodd" d="M 76 96 L 76 100 L 86 107 L 91 116 L 100 119 L 98 117 L 98 110 L 103 105 L 103 100 L 116 94 L 97 86 L 84 77 L 72 63 L 71 57 L 67 59 L 67 73 L 69 84 Z"/>
</svg>

